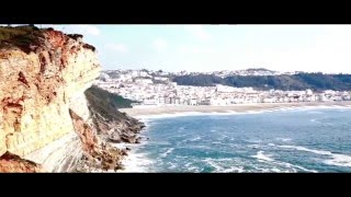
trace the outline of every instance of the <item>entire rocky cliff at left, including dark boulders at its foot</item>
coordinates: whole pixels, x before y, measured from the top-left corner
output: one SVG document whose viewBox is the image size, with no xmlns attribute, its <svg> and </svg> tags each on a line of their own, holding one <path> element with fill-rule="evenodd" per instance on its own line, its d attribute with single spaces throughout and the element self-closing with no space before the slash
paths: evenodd
<svg viewBox="0 0 351 197">
<path fill-rule="evenodd" d="M 104 120 L 84 95 L 101 70 L 95 48 L 31 26 L 0 27 L 0 171 L 121 167 L 125 153 L 100 139 Z M 10 165 L 20 159 L 26 167 Z"/>
</svg>

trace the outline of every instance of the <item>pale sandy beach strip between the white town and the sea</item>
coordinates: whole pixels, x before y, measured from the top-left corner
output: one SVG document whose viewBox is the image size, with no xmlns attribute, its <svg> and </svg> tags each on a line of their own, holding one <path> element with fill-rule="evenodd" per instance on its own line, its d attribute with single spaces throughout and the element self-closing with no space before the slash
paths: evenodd
<svg viewBox="0 0 351 197">
<path fill-rule="evenodd" d="M 304 107 L 304 106 L 351 106 L 351 101 L 343 102 L 304 102 L 304 103 L 254 103 L 254 104 L 236 104 L 228 106 L 211 106 L 211 105 L 179 105 L 179 106 L 155 106 L 148 108 L 121 108 L 121 112 L 129 116 L 144 115 L 161 115 L 161 114 L 178 114 L 178 113 L 245 113 L 252 111 L 278 109 L 285 107 Z"/>
</svg>

